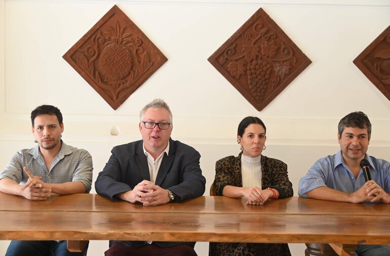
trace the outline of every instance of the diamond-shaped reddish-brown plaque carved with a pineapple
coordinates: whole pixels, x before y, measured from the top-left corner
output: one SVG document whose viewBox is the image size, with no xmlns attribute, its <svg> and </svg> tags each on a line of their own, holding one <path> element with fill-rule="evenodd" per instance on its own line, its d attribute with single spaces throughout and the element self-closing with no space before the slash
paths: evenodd
<svg viewBox="0 0 390 256">
<path fill-rule="evenodd" d="M 167 61 L 116 5 L 63 58 L 113 109 Z"/>
</svg>

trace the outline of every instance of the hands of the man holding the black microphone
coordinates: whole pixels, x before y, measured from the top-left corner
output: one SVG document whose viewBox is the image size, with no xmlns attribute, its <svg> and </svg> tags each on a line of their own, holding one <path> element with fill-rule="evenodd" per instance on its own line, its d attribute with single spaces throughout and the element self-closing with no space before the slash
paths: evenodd
<svg viewBox="0 0 390 256">
<path fill-rule="evenodd" d="M 350 194 L 352 202 L 360 203 L 363 201 L 382 201 L 390 203 L 390 195 L 387 194 L 374 180 L 366 182 L 360 189 Z"/>
</svg>

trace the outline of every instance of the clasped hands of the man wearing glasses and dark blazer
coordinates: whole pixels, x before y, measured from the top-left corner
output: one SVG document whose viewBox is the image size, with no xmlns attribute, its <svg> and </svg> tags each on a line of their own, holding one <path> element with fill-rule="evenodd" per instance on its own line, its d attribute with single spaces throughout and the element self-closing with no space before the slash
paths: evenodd
<svg viewBox="0 0 390 256">
<path fill-rule="evenodd" d="M 125 192 L 122 198 L 131 203 L 141 202 L 144 206 L 169 202 L 168 190 L 147 180 L 138 183 L 133 190 Z"/>
</svg>

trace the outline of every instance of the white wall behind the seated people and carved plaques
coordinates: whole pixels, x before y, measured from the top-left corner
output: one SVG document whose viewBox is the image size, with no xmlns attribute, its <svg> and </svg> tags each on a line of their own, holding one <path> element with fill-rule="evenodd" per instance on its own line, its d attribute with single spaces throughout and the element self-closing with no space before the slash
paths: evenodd
<svg viewBox="0 0 390 256">
<path fill-rule="evenodd" d="M 62 59 L 114 4 L 168 58 L 116 111 Z M 313 63 L 258 112 L 207 58 L 260 7 Z M 310 165 L 338 150 L 336 126 L 349 112 L 370 117 L 369 153 L 390 160 L 390 102 L 352 63 L 390 24 L 389 14 L 388 0 L 0 0 L 0 166 L 34 146 L 29 114 L 52 104 L 64 115 L 63 140 L 92 154 L 95 180 L 112 146 L 140 138 L 138 112 L 154 98 L 172 109 L 172 137 L 201 153 L 207 188 L 215 161 L 239 153 L 237 125 L 247 115 L 265 122 L 263 154 L 288 164 L 295 196 Z M 113 125 L 118 137 L 110 136 Z M 8 243 L 0 242 L 0 254 Z M 92 241 L 88 254 L 101 255 L 107 246 Z M 303 244 L 290 248 L 303 254 Z M 207 249 L 197 243 L 199 255 Z"/>
</svg>

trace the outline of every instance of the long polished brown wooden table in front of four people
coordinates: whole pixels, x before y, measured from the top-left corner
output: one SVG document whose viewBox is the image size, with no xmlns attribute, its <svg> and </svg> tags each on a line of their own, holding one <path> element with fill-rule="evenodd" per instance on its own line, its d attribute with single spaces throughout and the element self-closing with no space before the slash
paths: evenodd
<svg viewBox="0 0 390 256">
<path fill-rule="evenodd" d="M 30 201 L 0 192 L 0 239 L 390 244 L 390 208 L 210 196 L 144 207 L 96 194 Z"/>
</svg>

